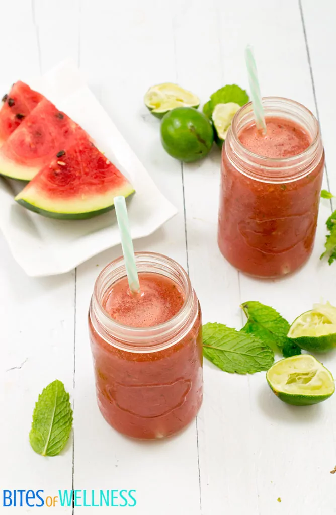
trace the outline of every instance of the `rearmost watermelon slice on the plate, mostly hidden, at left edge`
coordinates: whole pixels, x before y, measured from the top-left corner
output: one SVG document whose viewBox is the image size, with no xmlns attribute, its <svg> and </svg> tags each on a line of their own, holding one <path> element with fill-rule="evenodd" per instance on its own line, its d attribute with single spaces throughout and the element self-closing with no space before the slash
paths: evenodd
<svg viewBox="0 0 336 515">
<path fill-rule="evenodd" d="M 0 109 L 0 147 L 43 98 L 20 80 L 12 85 L 8 95 L 3 96 Z"/>
</svg>

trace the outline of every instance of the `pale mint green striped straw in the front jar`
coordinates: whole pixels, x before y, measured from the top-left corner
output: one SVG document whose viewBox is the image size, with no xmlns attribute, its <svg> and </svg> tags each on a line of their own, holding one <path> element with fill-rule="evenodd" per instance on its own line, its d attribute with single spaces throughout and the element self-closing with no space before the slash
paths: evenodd
<svg viewBox="0 0 336 515">
<path fill-rule="evenodd" d="M 132 291 L 132 293 L 140 293 L 139 276 L 136 265 L 136 258 L 134 255 L 131 231 L 129 228 L 125 197 L 114 197 L 113 201 L 116 219 L 119 225 L 121 246 L 124 254 L 129 289 Z"/>
</svg>

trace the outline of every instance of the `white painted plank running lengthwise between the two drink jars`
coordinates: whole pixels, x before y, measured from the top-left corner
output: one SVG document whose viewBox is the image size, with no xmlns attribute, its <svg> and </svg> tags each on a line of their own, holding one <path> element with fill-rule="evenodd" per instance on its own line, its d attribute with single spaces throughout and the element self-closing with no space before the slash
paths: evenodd
<svg viewBox="0 0 336 515">
<path fill-rule="evenodd" d="M 202 103 L 225 83 L 239 80 L 226 77 L 221 19 L 227 9 L 222 4 L 210 2 L 204 9 L 201 0 L 183 2 L 175 12 L 178 83 L 199 95 Z M 246 87 L 245 77 L 239 83 Z M 217 248 L 220 150 L 215 147 L 211 158 L 183 165 L 183 175 L 189 271 L 204 321 L 238 327 L 238 272 Z M 204 369 L 205 398 L 198 417 L 202 512 L 257 513 L 248 378 L 232 377 L 206 360 Z"/>
</svg>

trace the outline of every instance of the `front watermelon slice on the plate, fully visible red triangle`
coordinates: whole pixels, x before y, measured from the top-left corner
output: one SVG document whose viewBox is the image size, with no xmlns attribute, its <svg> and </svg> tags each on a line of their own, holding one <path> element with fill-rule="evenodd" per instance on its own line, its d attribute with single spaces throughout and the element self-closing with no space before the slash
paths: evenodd
<svg viewBox="0 0 336 515">
<path fill-rule="evenodd" d="M 113 208 L 117 195 L 134 192 L 126 177 L 83 131 L 66 150 L 15 197 L 19 204 L 51 218 L 91 218 Z"/>
</svg>

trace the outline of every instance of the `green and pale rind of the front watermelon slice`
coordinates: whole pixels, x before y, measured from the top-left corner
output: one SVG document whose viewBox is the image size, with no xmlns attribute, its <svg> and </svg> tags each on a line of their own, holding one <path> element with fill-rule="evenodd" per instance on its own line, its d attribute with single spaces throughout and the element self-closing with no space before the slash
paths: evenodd
<svg viewBox="0 0 336 515">
<path fill-rule="evenodd" d="M 61 220 L 82 220 L 101 215 L 114 209 L 114 197 L 122 195 L 130 197 L 135 190 L 127 184 L 113 188 L 104 195 L 95 195 L 86 198 L 72 198 L 68 200 L 54 200 L 39 193 L 35 188 L 26 188 L 16 195 L 15 200 L 24 208 L 48 218 Z"/>
</svg>

